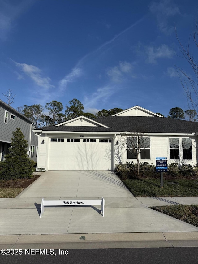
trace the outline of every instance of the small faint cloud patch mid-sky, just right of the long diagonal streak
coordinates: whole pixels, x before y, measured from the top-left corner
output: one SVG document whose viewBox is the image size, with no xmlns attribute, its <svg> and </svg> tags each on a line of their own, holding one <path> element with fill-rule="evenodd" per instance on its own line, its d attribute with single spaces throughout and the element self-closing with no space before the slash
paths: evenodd
<svg viewBox="0 0 198 264">
<path fill-rule="evenodd" d="M 126 74 L 130 74 L 133 70 L 131 63 L 126 61 L 119 62 L 118 66 L 107 70 L 107 75 L 113 82 L 120 82 Z"/>
</svg>

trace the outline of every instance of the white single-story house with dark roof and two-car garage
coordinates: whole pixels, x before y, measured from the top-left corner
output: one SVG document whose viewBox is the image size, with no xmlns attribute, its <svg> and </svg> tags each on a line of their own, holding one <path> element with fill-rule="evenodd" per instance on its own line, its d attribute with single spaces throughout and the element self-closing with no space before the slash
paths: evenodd
<svg viewBox="0 0 198 264">
<path fill-rule="evenodd" d="M 46 170 L 114 170 L 119 162 L 137 162 L 127 137 L 146 137 L 140 162 L 197 165 L 198 123 L 162 117 L 140 106 L 112 116 L 79 116 L 33 130 L 38 136 L 37 168 Z"/>
</svg>

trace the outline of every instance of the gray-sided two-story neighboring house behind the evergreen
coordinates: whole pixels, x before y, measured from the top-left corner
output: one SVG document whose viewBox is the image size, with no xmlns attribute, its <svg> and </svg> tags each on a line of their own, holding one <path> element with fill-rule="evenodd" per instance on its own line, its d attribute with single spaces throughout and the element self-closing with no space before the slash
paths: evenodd
<svg viewBox="0 0 198 264">
<path fill-rule="evenodd" d="M 28 141 L 29 158 L 37 161 L 38 137 L 32 132 L 32 120 L 0 100 L 0 161 L 3 161 L 11 145 L 12 132 L 20 128 Z"/>
</svg>

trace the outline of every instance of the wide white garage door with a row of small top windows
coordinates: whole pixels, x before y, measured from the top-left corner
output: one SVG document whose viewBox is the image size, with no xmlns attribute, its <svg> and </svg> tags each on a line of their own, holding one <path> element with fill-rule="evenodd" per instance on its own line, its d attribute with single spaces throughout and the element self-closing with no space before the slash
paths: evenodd
<svg viewBox="0 0 198 264">
<path fill-rule="evenodd" d="M 48 170 L 111 169 L 111 139 L 51 138 Z"/>
</svg>

